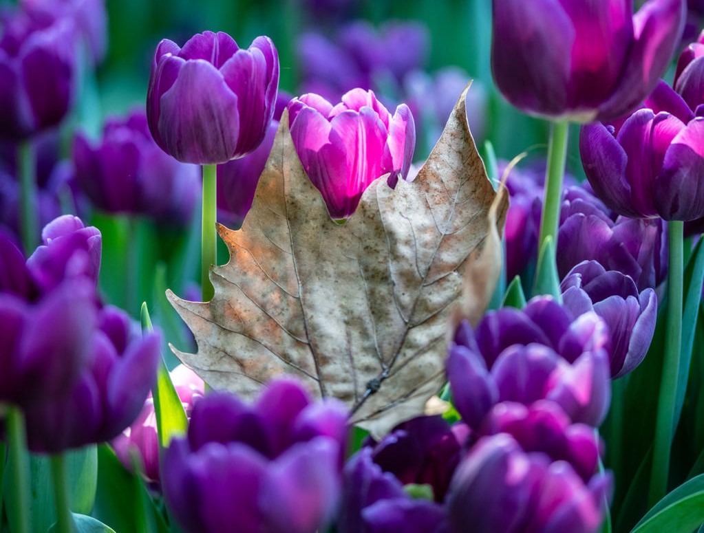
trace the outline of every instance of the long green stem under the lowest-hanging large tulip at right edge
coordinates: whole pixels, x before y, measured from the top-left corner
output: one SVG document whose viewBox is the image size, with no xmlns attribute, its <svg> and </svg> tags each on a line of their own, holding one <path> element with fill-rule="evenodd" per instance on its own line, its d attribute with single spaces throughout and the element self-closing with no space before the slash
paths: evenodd
<svg viewBox="0 0 704 533">
<path fill-rule="evenodd" d="M 665 359 L 662 361 L 658 418 L 655 421 L 655 447 L 653 470 L 650 475 L 650 506 L 658 503 L 667 492 L 667 476 L 670 473 L 670 447 L 674 435 L 673 416 L 677 398 L 677 375 L 682 342 L 682 292 L 684 250 L 682 245 L 683 223 L 679 220 L 667 222 L 669 239 L 669 263 L 667 274 L 667 333 L 665 336 Z"/>
</svg>

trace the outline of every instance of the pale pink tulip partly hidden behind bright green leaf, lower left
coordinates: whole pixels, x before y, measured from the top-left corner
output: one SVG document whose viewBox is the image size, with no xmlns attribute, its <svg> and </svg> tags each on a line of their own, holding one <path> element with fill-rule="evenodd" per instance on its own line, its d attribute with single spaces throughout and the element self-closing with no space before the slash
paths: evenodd
<svg viewBox="0 0 704 533">
<path fill-rule="evenodd" d="M 176 389 L 187 418 L 191 417 L 193 406 L 205 394 L 203 380 L 190 368 L 179 365 L 170 371 L 171 381 Z M 159 442 L 156 430 L 156 413 L 151 392 L 144 402 L 137 420 L 111 442 L 120 462 L 127 470 L 132 470 L 132 454 L 142 459 L 144 476 L 151 482 L 159 482 Z"/>
</svg>

